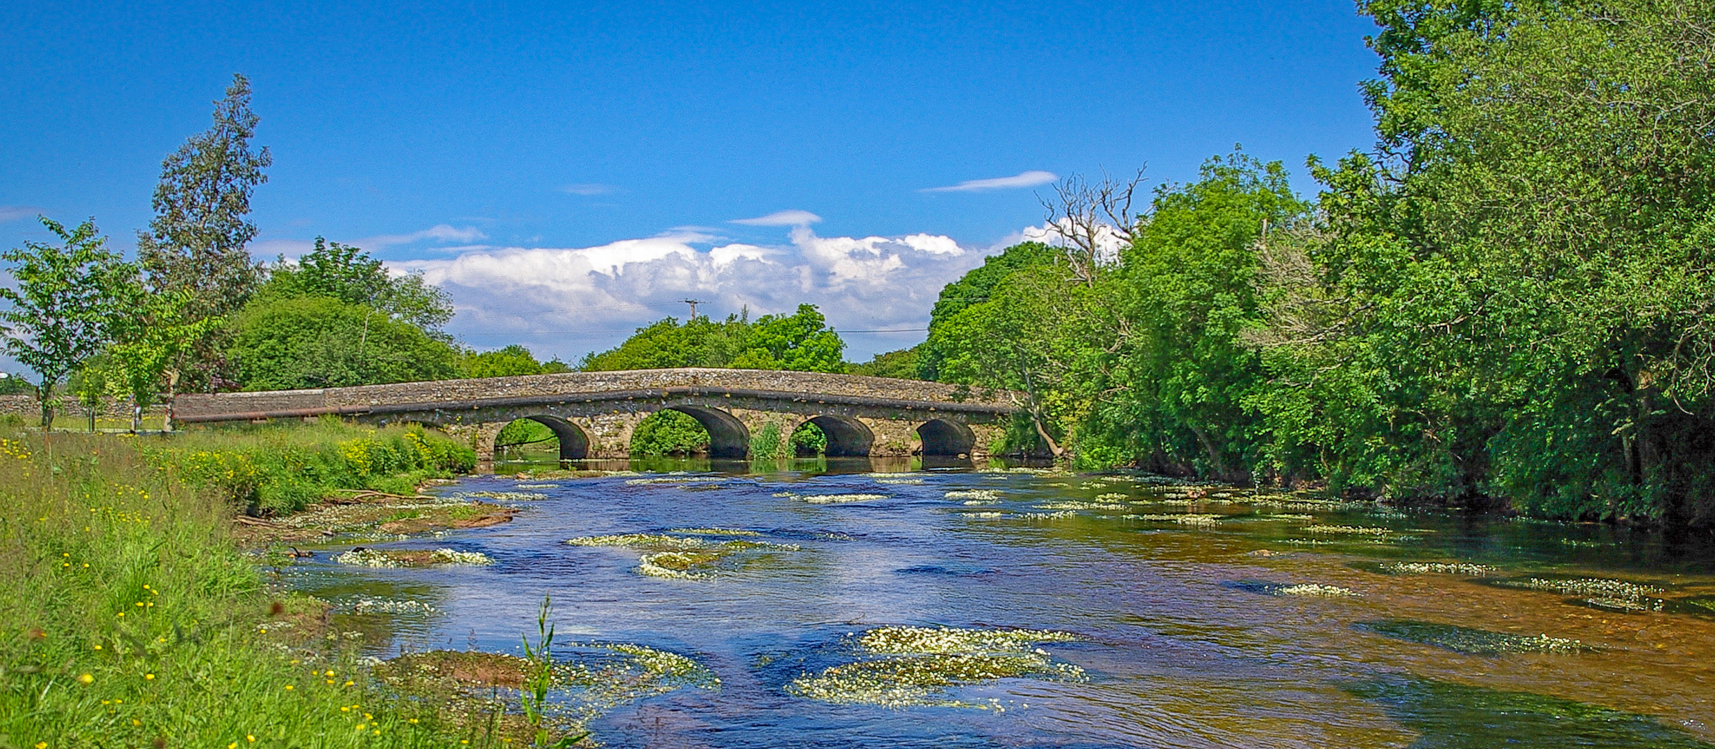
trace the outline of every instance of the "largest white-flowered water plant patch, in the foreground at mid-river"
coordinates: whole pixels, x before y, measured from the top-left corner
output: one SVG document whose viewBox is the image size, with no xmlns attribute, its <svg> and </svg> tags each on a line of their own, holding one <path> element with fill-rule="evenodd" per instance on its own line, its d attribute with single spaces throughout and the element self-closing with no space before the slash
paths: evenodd
<svg viewBox="0 0 1715 749">
<path fill-rule="evenodd" d="M 990 708 L 993 703 L 955 699 L 947 691 L 995 679 L 1084 680 L 1082 668 L 1036 648 L 1075 639 L 1031 629 L 875 627 L 847 638 L 868 660 L 803 674 L 784 689 L 835 704 Z"/>
</svg>

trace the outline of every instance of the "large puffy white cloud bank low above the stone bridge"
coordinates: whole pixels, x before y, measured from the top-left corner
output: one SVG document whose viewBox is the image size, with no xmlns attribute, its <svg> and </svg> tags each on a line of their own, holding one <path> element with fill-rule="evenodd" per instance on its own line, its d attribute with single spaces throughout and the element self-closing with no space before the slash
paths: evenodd
<svg viewBox="0 0 1715 749">
<path fill-rule="evenodd" d="M 820 237 L 791 225 L 787 240 L 722 242 L 679 230 L 595 247 L 490 247 L 449 259 L 391 262 L 446 288 L 458 315 L 449 331 L 475 346 L 525 343 L 539 355 L 575 358 L 609 348 L 631 329 L 667 315 L 683 319 L 683 298 L 698 312 L 792 312 L 815 303 L 835 329 L 904 329 L 854 334 L 849 355 L 923 339 L 942 286 L 998 247 L 966 247 L 950 237 Z"/>
</svg>

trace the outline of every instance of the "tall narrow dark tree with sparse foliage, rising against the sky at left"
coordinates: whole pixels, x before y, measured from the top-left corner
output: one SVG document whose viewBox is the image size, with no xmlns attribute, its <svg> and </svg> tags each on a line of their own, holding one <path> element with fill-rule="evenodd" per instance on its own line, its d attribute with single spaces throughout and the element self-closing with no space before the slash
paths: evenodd
<svg viewBox="0 0 1715 749">
<path fill-rule="evenodd" d="M 214 103 L 214 123 L 161 161 L 154 218 L 137 233 L 137 261 L 154 291 L 187 291 L 190 319 L 228 317 L 249 302 L 261 269 L 245 245 L 256 237 L 247 219 L 250 194 L 268 182 L 268 147 L 250 149 L 259 118 L 250 111 L 250 81 L 233 75 Z M 190 363 L 214 384 L 221 367 L 220 327 L 197 341 Z"/>
</svg>

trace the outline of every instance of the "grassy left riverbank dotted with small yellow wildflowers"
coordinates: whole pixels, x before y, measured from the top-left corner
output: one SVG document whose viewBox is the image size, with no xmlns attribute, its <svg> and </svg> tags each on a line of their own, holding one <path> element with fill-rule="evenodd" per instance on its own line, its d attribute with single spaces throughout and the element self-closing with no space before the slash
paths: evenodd
<svg viewBox="0 0 1715 749">
<path fill-rule="evenodd" d="M 230 535 L 235 509 L 398 488 L 466 452 L 336 423 L 165 440 L 0 428 L 0 747 L 487 744 L 442 723 L 441 701 L 372 686 L 350 653 L 268 634 L 297 607 Z"/>
</svg>

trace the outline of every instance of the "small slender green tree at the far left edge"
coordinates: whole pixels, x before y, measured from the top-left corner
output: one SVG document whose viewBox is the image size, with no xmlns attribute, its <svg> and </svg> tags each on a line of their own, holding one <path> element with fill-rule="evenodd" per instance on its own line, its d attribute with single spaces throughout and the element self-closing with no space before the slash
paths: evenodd
<svg viewBox="0 0 1715 749">
<path fill-rule="evenodd" d="M 0 252 L 12 262 L 17 288 L 0 288 L 10 309 L 0 312 L 5 351 L 36 372 L 41 428 L 53 428 L 53 389 L 106 345 L 113 286 L 127 273 L 120 255 L 98 237 L 94 219 L 67 231 L 58 221 L 41 225 L 60 245 L 24 242 Z"/>
</svg>

